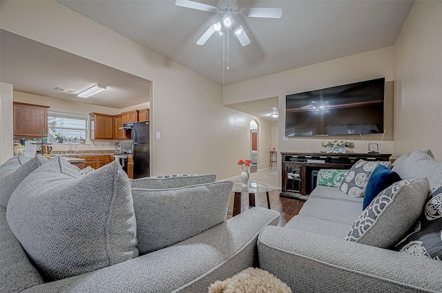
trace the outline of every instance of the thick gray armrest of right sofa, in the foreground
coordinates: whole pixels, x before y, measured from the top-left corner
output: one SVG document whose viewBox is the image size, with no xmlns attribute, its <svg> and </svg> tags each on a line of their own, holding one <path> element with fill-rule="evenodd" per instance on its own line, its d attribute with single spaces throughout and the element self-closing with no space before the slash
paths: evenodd
<svg viewBox="0 0 442 293">
<path fill-rule="evenodd" d="M 442 262 L 280 227 L 258 237 L 260 267 L 296 292 L 441 292 Z"/>
</svg>

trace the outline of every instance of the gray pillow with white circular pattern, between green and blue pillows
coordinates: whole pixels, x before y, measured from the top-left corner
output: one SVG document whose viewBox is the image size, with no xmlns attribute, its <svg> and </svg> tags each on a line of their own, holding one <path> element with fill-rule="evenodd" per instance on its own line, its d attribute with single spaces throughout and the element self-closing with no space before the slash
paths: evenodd
<svg viewBox="0 0 442 293">
<path fill-rule="evenodd" d="M 385 165 L 385 167 L 390 168 L 390 162 L 357 161 L 352 168 L 350 168 L 343 181 L 340 182 L 340 191 L 353 197 L 364 197 L 368 178 L 378 165 Z"/>
</svg>

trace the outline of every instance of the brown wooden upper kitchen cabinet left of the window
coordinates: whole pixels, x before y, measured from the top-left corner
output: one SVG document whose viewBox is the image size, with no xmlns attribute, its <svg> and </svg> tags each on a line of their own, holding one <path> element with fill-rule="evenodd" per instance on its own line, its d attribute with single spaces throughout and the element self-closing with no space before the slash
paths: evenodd
<svg viewBox="0 0 442 293">
<path fill-rule="evenodd" d="M 48 106 L 14 102 L 15 137 L 41 137 L 48 133 Z"/>
</svg>

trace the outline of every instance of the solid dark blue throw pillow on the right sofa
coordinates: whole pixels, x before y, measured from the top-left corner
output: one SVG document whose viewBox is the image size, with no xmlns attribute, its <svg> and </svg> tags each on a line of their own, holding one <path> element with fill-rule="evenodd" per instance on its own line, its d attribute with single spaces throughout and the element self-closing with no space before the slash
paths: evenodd
<svg viewBox="0 0 442 293">
<path fill-rule="evenodd" d="M 378 165 L 368 179 L 362 209 L 365 210 L 373 199 L 381 193 L 381 191 L 385 190 L 385 188 L 401 180 L 401 176 L 396 172 L 390 170 L 384 165 Z"/>
</svg>

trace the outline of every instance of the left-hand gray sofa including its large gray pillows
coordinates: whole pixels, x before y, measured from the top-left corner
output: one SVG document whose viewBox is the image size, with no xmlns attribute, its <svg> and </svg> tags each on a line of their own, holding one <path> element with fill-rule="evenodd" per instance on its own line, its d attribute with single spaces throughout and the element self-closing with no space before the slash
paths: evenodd
<svg viewBox="0 0 442 293">
<path fill-rule="evenodd" d="M 258 265 L 258 234 L 279 221 L 226 221 L 232 183 L 214 180 L 15 156 L 0 166 L 0 292 L 207 292 Z"/>
</svg>

